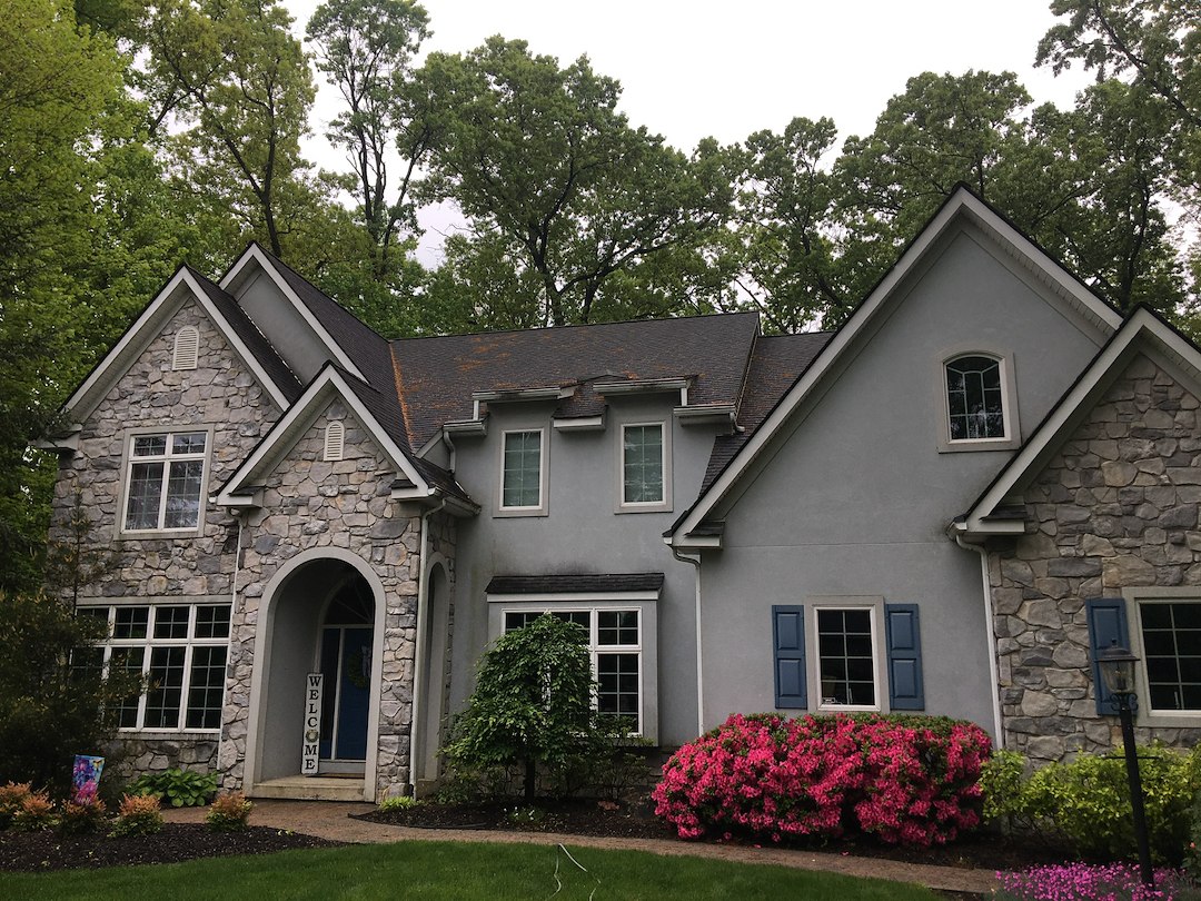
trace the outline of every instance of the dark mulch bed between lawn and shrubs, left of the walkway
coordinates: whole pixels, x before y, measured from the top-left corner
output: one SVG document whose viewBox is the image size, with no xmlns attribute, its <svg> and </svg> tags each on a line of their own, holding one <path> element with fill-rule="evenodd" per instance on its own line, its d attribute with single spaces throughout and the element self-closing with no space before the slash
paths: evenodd
<svg viewBox="0 0 1201 901">
<path fill-rule="evenodd" d="M 167 823 L 157 835 L 109 837 L 103 833 L 64 835 L 0 833 L 0 871 L 48 872 L 137 864 L 177 864 L 195 858 L 271 854 L 292 848 L 341 845 L 282 829 L 250 827 L 240 833 L 214 833 L 199 823 Z"/>
</svg>

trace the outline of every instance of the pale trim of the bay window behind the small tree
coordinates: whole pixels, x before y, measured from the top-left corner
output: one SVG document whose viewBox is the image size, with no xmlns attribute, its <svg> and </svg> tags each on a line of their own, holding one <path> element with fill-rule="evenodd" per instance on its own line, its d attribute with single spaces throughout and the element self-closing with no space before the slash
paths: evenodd
<svg viewBox="0 0 1201 901">
<path fill-rule="evenodd" d="M 594 643 L 597 617 L 592 616 L 588 636 L 588 654 L 592 657 L 592 674 L 597 675 L 597 655 L 638 654 L 638 705 L 639 734 L 658 744 L 658 592 L 655 591 L 605 591 L 562 592 L 555 595 L 488 595 L 488 638 L 495 642 L 504 634 L 507 613 L 568 613 L 607 610 L 635 610 L 638 613 L 638 650 L 632 645 L 605 645 L 599 650 Z M 610 650 L 611 648 L 611 650 Z"/>
</svg>

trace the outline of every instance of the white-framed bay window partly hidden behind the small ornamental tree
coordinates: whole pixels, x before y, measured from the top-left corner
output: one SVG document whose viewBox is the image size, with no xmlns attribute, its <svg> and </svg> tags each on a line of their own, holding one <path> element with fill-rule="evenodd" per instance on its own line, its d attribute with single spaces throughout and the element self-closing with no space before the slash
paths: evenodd
<svg viewBox="0 0 1201 901">
<path fill-rule="evenodd" d="M 619 595 L 621 592 L 617 592 Z M 653 592 L 639 599 L 522 599 L 520 595 L 489 596 L 489 632 L 504 632 L 551 614 L 576 623 L 587 634 L 592 674 L 597 680 L 597 710 L 626 717 L 634 732 L 658 739 L 658 654 Z"/>
</svg>

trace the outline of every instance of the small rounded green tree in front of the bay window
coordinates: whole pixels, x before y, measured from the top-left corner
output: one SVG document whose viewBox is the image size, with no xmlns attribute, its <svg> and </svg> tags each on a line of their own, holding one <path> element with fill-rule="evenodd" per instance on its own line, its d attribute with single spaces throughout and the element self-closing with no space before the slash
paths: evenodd
<svg viewBox="0 0 1201 901">
<path fill-rule="evenodd" d="M 524 766 L 532 800 L 539 766 L 562 772 L 588 754 L 597 732 L 593 690 L 585 631 L 539 616 L 484 655 L 443 753 L 458 768 Z"/>
</svg>

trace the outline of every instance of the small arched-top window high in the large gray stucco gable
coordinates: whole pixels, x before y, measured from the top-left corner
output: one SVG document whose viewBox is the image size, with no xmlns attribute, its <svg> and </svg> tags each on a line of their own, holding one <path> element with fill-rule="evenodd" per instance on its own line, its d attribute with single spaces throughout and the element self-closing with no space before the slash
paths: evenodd
<svg viewBox="0 0 1201 901">
<path fill-rule="evenodd" d="M 961 353 L 943 363 L 944 450 L 1016 447 L 1017 411 L 1008 356 Z"/>
</svg>

